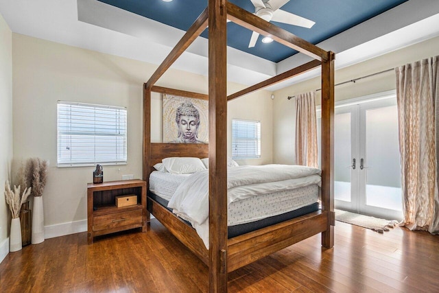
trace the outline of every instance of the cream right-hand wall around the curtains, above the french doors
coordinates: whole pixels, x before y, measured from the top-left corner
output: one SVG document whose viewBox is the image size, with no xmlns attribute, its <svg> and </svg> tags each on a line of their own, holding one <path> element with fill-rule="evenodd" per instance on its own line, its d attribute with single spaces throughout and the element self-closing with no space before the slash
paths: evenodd
<svg viewBox="0 0 439 293">
<path fill-rule="evenodd" d="M 439 54 L 438 48 L 439 37 L 431 38 L 357 65 L 336 70 L 335 84 L 436 56 Z M 337 55 L 335 55 L 335 64 L 337 64 Z M 294 153 L 296 113 L 294 99 L 288 100 L 287 97 L 315 91 L 320 89 L 320 85 L 320 77 L 318 77 L 274 92 L 276 98 L 273 106 L 273 163 L 294 164 L 296 161 Z M 393 71 L 390 71 L 358 80 L 355 83 L 335 86 L 335 101 L 381 93 L 395 88 L 395 75 Z M 320 104 L 320 91 L 318 91 L 317 96 L 316 102 Z"/>
</svg>

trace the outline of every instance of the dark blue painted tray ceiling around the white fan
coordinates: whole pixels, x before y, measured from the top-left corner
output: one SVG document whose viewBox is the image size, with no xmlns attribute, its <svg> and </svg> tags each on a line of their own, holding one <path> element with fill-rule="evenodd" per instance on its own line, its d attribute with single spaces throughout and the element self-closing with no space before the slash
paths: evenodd
<svg viewBox="0 0 439 293">
<path fill-rule="evenodd" d="M 206 8 L 208 2 L 207 0 L 99 1 L 184 31 L 189 29 L 193 21 Z M 254 12 L 254 6 L 250 0 L 229 1 L 249 12 Z M 305 28 L 272 22 L 309 43 L 317 44 L 405 1 L 407 0 L 290 0 L 281 7 L 281 10 L 305 17 L 315 21 L 316 24 L 311 28 Z M 229 47 L 246 51 L 272 62 L 279 62 L 297 53 L 297 51 L 276 42 L 262 43 L 262 36 L 259 36 L 255 47 L 249 48 L 248 43 L 252 31 L 233 22 L 227 24 L 227 30 L 227 45 Z M 201 36 L 207 38 L 208 34 L 208 29 L 206 29 Z"/>
</svg>

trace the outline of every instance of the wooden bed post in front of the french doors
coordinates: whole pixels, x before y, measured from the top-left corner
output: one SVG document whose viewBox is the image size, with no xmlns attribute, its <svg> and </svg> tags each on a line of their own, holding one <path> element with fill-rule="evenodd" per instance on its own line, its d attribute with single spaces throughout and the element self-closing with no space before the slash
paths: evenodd
<svg viewBox="0 0 439 293">
<path fill-rule="evenodd" d="M 327 230 L 322 232 L 322 246 L 334 246 L 334 59 L 322 62 L 322 211 L 327 211 Z"/>
</svg>

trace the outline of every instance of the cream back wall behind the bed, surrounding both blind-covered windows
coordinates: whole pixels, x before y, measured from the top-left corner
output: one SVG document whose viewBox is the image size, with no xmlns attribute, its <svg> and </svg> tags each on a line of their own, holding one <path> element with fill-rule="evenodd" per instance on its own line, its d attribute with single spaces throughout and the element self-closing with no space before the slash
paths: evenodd
<svg viewBox="0 0 439 293">
<path fill-rule="evenodd" d="M 49 160 L 47 186 L 43 194 L 46 237 L 75 233 L 86 229 L 86 183 L 91 182 L 94 167 L 56 167 L 56 102 L 88 102 L 128 108 L 128 164 L 104 166 L 104 180 L 120 180 L 122 174 L 142 175 L 143 82 L 156 65 L 110 56 L 68 45 L 13 34 L 14 89 L 14 171 L 21 161 L 32 156 Z M 170 70 L 157 83 L 174 89 L 207 93 L 208 79 Z M 231 93 L 243 89 L 228 84 Z M 263 139 L 260 160 L 272 161 L 272 100 L 270 92 L 243 97 L 230 103 L 231 118 L 263 121 L 267 137 Z M 162 108 L 160 96 L 152 100 L 152 141 L 161 141 Z M 241 103 L 251 106 L 241 106 Z M 231 147 L 230 147 L 231 148 Z M 229 150 L 230 151 L 230 150 Z M 70 223 L 73 222 L 74 228 Z M 62 225 L 68 223 L 67 225 Z M 70 229 L 69 231 L 67 231 Z"/>
</svg>

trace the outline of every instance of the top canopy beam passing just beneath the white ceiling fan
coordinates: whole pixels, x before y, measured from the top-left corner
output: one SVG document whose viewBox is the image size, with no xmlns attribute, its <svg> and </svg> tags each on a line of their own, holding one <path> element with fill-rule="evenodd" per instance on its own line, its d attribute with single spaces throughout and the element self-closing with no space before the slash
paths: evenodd
<svg viewBox="0 0 439 293">
<path fill-rule="evenodd" d="M 327 51 L 308 43 L 306 40 L 299 38 L 280 27 L 276 27 L 276 25 L 269 23 L 268 21 L 264 21 L 260 17 L 255 16 L 233 3 L 227 2 L 227 13 L 230 21 L 233 21 L 242 27 L 246 27 L 248 30 L 258 32 L 264 36 L 270 36 L 270 38 L 276 40 L 276 42 L 300 51 L 316 60 L 324 61 L 329 59 Z"/>
</svg>

